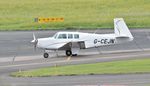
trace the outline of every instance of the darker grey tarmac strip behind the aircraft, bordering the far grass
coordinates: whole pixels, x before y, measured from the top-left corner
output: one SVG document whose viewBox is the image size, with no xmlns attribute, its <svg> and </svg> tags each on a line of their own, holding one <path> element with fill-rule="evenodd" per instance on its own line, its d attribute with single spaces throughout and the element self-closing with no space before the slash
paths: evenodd
<svg viewBox="0 0 150 86">
<path fill-rule="evenodd" d="M 100 47 L 100 51 L 114 51 L 114 50 L 133 50 L 133 49 L 147 49 L 150 48 L 150 30 L 149 29 L 131 29 L 135 41 L 118 44 L 115 46 Z M 35 33 L 36 38 L 43 38 L 53 36 L 57 30 L 52 31 L 4 31 L 0 32 L 0 58 L 14 57 L 14 56 L 33 56 L 41 55 L 43 51 L 35 52 L 33 45 L 30 43 L 33 40 L 32 34 Z M 80 32 L 91 32 L 92 30 L 80 30 Z M 113 33 L 113 30 L 98 30 L 97 33 Z M 137 46 L 138 45 L 138 46 Z M 91 49 L 89 49 L 91 51 Z M 84 50 L 86 51 L 86 50 Z M 88 51 L 88 50 L 87 50 Z M 92 50 L 93 51 L 93 50 Z M 94 49 L 96 52 L 97 49 Z"/>
</svg>

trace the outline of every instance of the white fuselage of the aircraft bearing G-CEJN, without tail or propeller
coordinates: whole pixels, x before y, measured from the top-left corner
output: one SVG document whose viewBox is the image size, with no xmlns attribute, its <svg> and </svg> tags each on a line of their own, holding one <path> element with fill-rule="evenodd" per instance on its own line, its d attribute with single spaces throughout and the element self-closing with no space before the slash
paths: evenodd
<svg viewBox="0 0 150 86">
<path fill-rule="evenodd" d="M 58 32 L 53 37 L 39 38 L 38 48 L 56 50 L 67 43 L 82 42 L 84 48 L 112 45 L 116 43 L 115 34 L 94 34 L 82 32 Z M 64 49 L 65 50 L 65 49 Z"/>
</svg>

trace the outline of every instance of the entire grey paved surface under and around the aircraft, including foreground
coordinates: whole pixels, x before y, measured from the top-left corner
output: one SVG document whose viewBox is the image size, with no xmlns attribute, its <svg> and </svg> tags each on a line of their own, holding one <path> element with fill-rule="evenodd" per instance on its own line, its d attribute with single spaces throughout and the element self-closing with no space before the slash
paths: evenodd
<svg viewBox="0 0 150 86">
<path fill-rule="evenodd" d="M 53 76 L 35 78 L 14 78 L 9 74 L 15 71 L 54 65 L 71 65 L 83 63 L 109 62 L 128 59 L 145 59 L 150 57 L 150 30 L 132 29 L 135 40 L 119 44 L 81 50 L 79 56 L 70 60 L 59 51 L 59 56 L 50 53 L 51 58 L 44 59 L 43 51 L 33 50 L 30 44 L 32 33 L 36 37 L 52 36 L 57 31 L 13 31 L 0 32 L 0 86 L 149 86 L 150 74 L 121 75 L 80 75 Z M 92 32 L 81 30 L 81 32 Z M 112 33 L 113 30 L 99 30 L 97 33 Z"/>
</svg>

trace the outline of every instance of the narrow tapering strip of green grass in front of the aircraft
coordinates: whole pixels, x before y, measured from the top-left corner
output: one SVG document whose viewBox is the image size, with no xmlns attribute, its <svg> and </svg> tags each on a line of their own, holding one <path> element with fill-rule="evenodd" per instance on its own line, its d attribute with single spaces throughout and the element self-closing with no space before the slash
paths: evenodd
<svg viewBox="0 0 150 86">
<path fill-rule="evenodd" d="M 114 61 L 94 64 L 47 67 L 12 73 L 15 77 L 41 77 L 82 74 L 150 73 L 150 59 Z"/>
</svg>

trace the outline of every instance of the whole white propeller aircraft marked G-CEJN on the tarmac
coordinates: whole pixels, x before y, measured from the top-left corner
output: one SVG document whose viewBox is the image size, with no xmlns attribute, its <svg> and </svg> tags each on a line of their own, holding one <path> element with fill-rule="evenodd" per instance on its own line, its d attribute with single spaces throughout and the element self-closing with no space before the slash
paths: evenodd
<svg viewBox="0 0 150 86">
<path fill-rule="evenodd" d="M 76 56 L 80 49 L 114 45 L 134 39 L 123 18 L 114 19 L 112 34 L 57 32 L 53 37 L 36 39 L 33 34 L 33 38 L 31 43 L 34 47 L 44 49 L 44 58 L 49 57 L 47 50 L 65 50 L 67 56 Z"/>
</svg>

